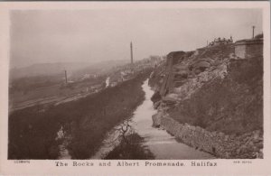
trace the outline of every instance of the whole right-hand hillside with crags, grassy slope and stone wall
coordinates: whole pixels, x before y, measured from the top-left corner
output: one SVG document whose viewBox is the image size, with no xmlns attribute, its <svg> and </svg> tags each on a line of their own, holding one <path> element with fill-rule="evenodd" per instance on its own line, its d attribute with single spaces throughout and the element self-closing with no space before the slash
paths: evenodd
<svg viewBox="0 0 271 176">
<path fill-rule="evenodd" d="M 171 52 L 151 75 L 163 125 L 220 158 L 262 157 L 263 57 L 237 60 L 233 45 Z"/>
</svg>

